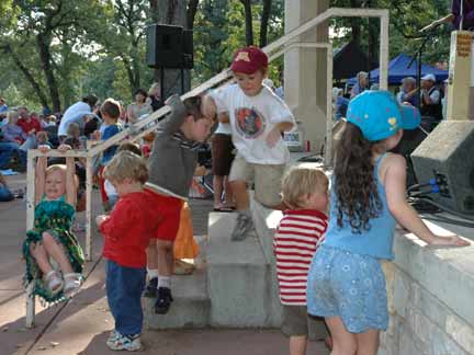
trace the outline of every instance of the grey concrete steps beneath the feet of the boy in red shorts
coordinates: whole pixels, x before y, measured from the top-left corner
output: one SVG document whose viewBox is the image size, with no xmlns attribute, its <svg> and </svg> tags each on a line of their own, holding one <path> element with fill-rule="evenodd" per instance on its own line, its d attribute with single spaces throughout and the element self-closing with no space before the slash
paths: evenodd
<svg viewBox="0 0 474 355">
<path fill-rule="evenodd" d="M 208 324 L 211 300 L 207 295 L 206 280 L 206 238 L 195 238 L 201 250 L 196 260 L 196 270 L 192 275 L 174 275 L 172 277 L 174 301 L 170 311 L 167 314 L 156 314 L 155 299 L 144 298 L 144 321 L 147 329 L 203 328 Z"/>
</svg>

